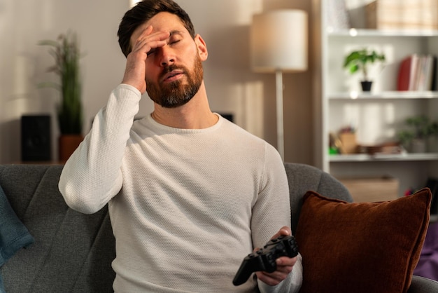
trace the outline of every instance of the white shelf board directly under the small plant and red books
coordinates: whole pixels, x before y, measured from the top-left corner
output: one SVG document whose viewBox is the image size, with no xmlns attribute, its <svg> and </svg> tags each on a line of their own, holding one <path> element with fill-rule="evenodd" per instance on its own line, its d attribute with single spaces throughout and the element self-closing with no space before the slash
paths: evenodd
<svg viewBox="0 0 438 293">
<path fill-rule="evenodd" d="M 329 100 L 391 100 L 391 99 L 438 99 L 438 92 L 436 91 L 398 91 L 391 90 L 381 93 L 363 93 L 363 92 L 350 92 L 350 93 L 331 93 L 328 95 Z"/>
</svg>

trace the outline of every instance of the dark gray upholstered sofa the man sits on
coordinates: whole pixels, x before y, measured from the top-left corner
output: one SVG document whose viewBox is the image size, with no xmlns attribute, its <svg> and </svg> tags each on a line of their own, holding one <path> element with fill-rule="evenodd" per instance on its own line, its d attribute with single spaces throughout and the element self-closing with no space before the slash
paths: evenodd
<svg viewBox="0 0 438 293">
<path fill-rule="evenodd" d="M 295 163 L 285 168 L 293 186 L 292 231 L 306 191 L 351 201 L 327 173 Z M 35 239 L 1 267 L 7 293 L 113 291 L 115 241 L 108 209 L 87 215 L 67 207 L 57 187 L 61 170 L 61 165 L 0 165 L 0 186 Z M 409 292 L 438 292 L 438 282 L 414 276 Z"/>
</svg>

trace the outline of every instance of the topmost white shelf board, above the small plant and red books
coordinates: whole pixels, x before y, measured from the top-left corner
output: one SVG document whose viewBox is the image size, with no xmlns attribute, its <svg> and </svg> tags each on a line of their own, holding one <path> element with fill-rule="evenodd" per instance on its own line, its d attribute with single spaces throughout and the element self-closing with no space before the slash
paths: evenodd
<svg viewBox="0 0 438 293">
<path fill-rule="evenodd" d="M 420 30 L 420 29 L 406 29 L 406 30 L 378 30 L 378 29 L 344 29 L 339 31 L 331 31 L 327 28 L 328 36 L 438 36 L 437 30 Z"/>
</svg>

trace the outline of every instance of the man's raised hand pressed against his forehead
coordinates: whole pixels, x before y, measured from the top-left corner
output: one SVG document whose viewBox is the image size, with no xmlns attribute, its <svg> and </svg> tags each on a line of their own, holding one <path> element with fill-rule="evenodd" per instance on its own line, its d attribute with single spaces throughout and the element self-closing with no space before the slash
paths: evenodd
<svg viewBox="0 0 438 293">
<path fill-rule="evenodd" d="M 141 27 L 139 28 L 141 29 Z M 133 36 L 135 37 L 134 31 Z M 129 84 L 137 88 L 141 94 L 146 92 L 146 59 L 148 52 L 155 48 L 160 48 L 167 44 L 169 32 L 153 32 L 150 25 L 140 32 L 134 43 L 132 51 L 127 56 L 125 75 L 122 83 Z"/>
</svg>

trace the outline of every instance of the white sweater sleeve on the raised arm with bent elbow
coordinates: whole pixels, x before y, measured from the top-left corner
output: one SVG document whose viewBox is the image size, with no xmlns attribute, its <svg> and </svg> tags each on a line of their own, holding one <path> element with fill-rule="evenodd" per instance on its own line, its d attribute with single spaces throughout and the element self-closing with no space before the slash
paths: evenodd
<svg viewBox="0 0 438 293">
<path fill-rule="evenodd" d="M 59 191 L 73 210 L 97 212 L 122 188 L 122 158 L 140 99 L 141 93 L 132 86 L 115 88 L 64 165 Z"/>
</svg>

